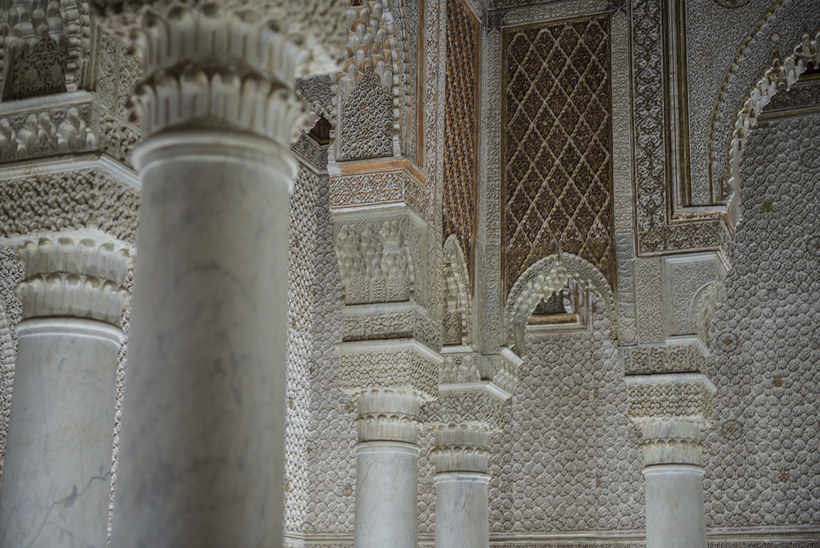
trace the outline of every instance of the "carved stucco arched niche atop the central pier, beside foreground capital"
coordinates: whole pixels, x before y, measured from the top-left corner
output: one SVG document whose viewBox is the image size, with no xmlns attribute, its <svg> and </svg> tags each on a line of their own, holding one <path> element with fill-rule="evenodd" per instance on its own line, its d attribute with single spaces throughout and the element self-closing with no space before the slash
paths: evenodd
<svg viewBox="0 0 820 548">
<path fill-rule="evenodd" d="M 336 75 L 331 137 L 335 159 L 379 158 L 401 151 L 399 132 L 409 112 L 407 37 L 403 13 L 386 0 L 347 12 L 348 60 Z"/>
</svg>

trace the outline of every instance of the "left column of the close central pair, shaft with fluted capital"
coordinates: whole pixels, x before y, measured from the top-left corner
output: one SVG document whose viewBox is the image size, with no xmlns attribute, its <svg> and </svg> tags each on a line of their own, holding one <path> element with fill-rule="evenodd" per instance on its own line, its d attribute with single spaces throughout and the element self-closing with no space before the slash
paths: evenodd
<svg viewBox="0 0 820 548">
<path fill-rule="evenodd" d="M 354 548 L 417 548 L 417 416 L 421 397 L 400 390 L 358 395 Z"/>
</svg>

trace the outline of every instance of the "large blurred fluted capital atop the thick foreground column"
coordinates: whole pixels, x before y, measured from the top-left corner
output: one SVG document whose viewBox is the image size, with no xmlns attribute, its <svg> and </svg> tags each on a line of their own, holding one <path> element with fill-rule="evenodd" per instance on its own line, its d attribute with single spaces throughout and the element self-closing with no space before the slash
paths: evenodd
<svg viewBox="0 0 820 548">
<path fill-rule="evenodd" d="M 132 101 L 147 135 L 210 128 L 282 146 L 307 129 L 295 78 L 335 70 L 344 57 L 347 6 L 344 0 L 95 2 L 103 25 L 143 57 L 145 77 Z"/>
</svg>

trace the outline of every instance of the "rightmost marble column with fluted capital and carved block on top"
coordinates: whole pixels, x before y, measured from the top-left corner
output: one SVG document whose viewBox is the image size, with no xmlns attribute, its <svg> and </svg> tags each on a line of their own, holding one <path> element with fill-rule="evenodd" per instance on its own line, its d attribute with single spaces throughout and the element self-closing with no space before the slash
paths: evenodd
<svg viewBox="0 0 820 548">
<path fill-rule="evenodd" d="M 699 373 L 626 377 L 644 456 L 647 548 L 706 548 L 700 431 L 714 385 Z"/>
</svg>

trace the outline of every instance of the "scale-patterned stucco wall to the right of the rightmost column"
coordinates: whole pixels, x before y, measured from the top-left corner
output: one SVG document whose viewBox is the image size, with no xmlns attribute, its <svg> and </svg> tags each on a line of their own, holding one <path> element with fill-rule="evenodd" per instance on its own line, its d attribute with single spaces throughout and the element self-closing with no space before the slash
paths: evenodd
<svg viewBox="0 0 820 548">
<path fill-rule="evenodd" d="M 707 523 L 818 525 L 820 117 L 770 122 L 746 147 L 746 217 L 707 361 Z"/>
</svg>

